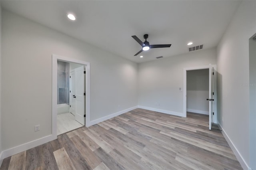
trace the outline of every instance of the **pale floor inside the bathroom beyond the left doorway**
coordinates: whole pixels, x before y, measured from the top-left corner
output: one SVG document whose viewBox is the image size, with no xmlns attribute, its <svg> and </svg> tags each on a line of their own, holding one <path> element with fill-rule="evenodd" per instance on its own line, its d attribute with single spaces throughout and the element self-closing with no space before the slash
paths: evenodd
<svg viewBox="0 0 256 170">
<path fill-rule="evenodd" d="M 82 124 L 75 120 L 75 116 L 72 115 L 72 113 L 62 113 L 57 115 L 57 135 L 82 126 Z"/>
</svg>

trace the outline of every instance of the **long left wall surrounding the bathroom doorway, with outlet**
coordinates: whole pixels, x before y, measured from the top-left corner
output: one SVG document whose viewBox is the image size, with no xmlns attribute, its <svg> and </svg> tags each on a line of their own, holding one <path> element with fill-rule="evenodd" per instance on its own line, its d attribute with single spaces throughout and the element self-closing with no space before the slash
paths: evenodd
<svg viewBox="0 0 256 170">
<path fill-rule="evenodd" d="M 52 54 L 90 62 L 90 121 L 138 105 L 138 64 L 2 10 L 3 150 L 52 134 Z"/>
</svg>

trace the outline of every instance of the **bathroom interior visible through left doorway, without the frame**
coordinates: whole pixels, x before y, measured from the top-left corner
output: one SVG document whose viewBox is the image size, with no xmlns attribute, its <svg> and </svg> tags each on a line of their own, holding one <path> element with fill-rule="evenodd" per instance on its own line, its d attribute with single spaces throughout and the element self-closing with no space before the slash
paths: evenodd
<svg viewBox="0 0 256 170">
<path fill-rule="evenodd" d="M 85 125 L 84 65 L 57 61 L 57 135 Z"/>
</svg>

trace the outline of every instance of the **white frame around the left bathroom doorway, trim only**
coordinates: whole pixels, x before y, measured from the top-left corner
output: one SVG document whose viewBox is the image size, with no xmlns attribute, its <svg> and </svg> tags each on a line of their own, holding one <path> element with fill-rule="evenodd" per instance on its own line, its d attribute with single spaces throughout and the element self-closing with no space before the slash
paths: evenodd
<svg viewBox="0 0 256 170">
<path fill-rule="evenodd" d="M 85 126 L 90 125 L 90 63 L 73 58 L 63 57 L 52 54 L 52 135 L 57 138 L 57 61 L 64 61 L 68 63 L 77 63 L 85 67 Z"/>
</svg>

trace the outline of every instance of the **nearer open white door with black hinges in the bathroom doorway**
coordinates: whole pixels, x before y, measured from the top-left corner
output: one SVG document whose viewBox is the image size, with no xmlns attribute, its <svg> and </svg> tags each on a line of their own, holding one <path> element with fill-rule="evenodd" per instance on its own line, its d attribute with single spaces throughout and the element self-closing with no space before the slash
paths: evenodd
<svg viewBox="0 0 256 170">
<path fill-rule="evenodd" d="M 76 75 L 76 114 L 75 114 L 75 119 L 82 125 L 85 125 L 85 110 L 84 110 L 84 105 L 85 105 L 85 97 L 84 97 L 84 66 L 78 67 L 75 69 L 75 75 Z"/>
</svg>

